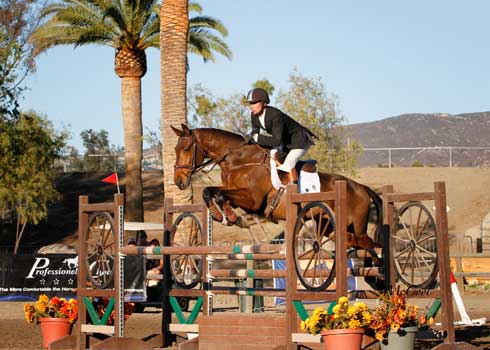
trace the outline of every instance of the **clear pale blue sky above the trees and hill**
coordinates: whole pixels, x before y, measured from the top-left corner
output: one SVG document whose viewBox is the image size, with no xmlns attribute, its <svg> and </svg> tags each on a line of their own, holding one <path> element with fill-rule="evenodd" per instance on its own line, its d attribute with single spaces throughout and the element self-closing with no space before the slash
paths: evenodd
<svg viewBox="0 0 490 350">
<path fill-rule="evenodd" d="M 233 59 L 215 64 L 191 57 L 188 83 L 215 96 L 244 94 L 257 79 L 287 89 L 293 69 L 320 77 L 340 99 L 349 123 L 404 113 L 490 110 L 490 1 L 201 0 L 204 14 L 229 30 Z M 160 118 L 159 52 L 149 49 L 143 78 L 143 124 Z M 109 132 L 123 145 L 120 79 L 114 50 L 55 48 L 39 57 L 22 102 L 80 132 Z M 274 99 L 272 98 L 272 104 Z M 407 145 L 410 146 L 410 145 Z"/>
</svg>

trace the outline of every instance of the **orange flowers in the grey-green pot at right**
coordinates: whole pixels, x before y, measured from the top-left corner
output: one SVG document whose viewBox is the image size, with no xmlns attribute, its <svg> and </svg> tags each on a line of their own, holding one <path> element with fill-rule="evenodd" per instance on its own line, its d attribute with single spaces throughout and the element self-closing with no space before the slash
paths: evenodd
<svg viewBox="0 0 490 350">
<path fill-rule="evenodd" d="M 407 303 L 405 291 L 396 288 L 379 296 L 372 314 L 371 328 L 382 349 L 410 350 L 414 348 L 415 333 L 433 324 L 431 317 L 419 315 L 419 307 Z"/>
</svg>

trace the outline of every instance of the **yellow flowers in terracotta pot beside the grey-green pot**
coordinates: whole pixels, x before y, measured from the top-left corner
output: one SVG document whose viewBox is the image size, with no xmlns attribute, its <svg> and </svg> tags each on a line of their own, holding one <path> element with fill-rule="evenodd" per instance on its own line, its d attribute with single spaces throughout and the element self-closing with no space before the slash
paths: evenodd
<svg viewBox="0 0 490 350">
<path fill-rule="evenodd" d="M 321 334 L 328 350 L 358 350 L 370 322 L 371 313 L 365 303 L 349 305 L 347 297 L 341 297 L 330 314 L 322 307 L 316 308 L 311 317 L 301 322 L 301 329 Z"/>
</svg>

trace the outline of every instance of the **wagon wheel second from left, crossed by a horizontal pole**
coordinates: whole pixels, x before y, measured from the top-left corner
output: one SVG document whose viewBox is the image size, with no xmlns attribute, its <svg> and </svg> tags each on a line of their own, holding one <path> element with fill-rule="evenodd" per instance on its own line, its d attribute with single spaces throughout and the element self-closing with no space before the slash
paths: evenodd
<svg viewBox="0 0 490 350">
<path fill-rule="evenodd" d="M 174 247 L 202 246 L 202 226 L 194 214 L 183 213 L 177 217 L 170 240 Z M 202 256 L 170 255 L 170 271 L 179 287 L 194 288 L 202 279 Z"/>
</svg>

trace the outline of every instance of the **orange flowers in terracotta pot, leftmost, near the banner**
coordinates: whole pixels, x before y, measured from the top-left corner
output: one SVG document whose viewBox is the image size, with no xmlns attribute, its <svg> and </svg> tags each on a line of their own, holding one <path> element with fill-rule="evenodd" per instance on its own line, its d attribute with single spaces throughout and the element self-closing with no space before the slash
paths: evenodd
<svg viewBox="0 0 490 350">
<path fill-rule="evenodd" d="M 78 318 L 78 303 L 75 299 L 52 297 L 41 294 L 34 304 L 24 304 L 27 322 L 41 325 L 43 347 L 71 333 Z"/>
</svg>

